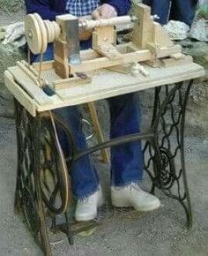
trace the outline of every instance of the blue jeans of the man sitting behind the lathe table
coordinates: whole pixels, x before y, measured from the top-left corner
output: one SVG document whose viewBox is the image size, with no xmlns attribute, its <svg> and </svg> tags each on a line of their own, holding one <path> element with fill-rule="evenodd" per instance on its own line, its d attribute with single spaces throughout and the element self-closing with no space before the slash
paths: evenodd
<svg viewBox="0 0 208 256">
<path fill-rule="evenodd" d="M 81 45 L 82 49 L 89 47 L 89 43 Z M 49 45 L 44 54 L 44 60 L 53 58 L 53 46 Z M 33 58 L 38 61 L 38 56 Z M 110 138 L 130 133 L 140 132 L 141 112 L 139 107 L 138 94 L 124 94 L 109 98 L 110 111 Z M 56 115 L 61 117 L 65 124 L 71 127 L 78 150 L 86 148 L 85 135 L 82 132 L 81 114 L 77 106 L 66 107 L 54 110 Z M 58 128 L 58 135 L 63 153 L 69 155 L 71 145 L 66 139 L 66 134 L 61 127 Z M 99 177 L 88 155 L 81 157 L 74 162 L 70 169 L 71 188 L 77 199 L 85 198 L 98 190 Z M 115 186 L 122 186 L 132 182 L 140 182 L 143 177 L 143 163 L 141 141 L 130 142 L 119 147 L 111 148 L 111 183 Z"/>
</svg>

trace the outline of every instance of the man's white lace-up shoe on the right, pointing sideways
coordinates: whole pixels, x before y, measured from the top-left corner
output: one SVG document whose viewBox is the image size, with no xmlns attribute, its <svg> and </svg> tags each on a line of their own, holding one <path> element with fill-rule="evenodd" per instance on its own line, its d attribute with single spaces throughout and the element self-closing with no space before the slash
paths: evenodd
<svg viewBox="0 0 208 256">
<path fill-rule="evenodd" d="M 138 184 L 112 186 L 111 200 L 115 207 L 134 207 L 138 212 L 148 212 L 160 207 L 160 200 L 141 190 Z"/>
</svg>

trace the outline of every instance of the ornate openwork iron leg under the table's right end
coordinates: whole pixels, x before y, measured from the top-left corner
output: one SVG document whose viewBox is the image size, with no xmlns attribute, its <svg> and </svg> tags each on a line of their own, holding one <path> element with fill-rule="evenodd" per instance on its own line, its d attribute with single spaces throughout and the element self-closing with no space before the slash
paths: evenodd
<svg viewBox="0 0 208 256">
<path fill-rule="evenodd" d="M 155 88 L 151 125 L 154 136 L 144 148 L 144 168 L 152 179 L 152 192 L 157 187 L 178 200 L 189 229 L 192 214 L 184 160 L 184 124 L 192 82 Z"/>
</svg>

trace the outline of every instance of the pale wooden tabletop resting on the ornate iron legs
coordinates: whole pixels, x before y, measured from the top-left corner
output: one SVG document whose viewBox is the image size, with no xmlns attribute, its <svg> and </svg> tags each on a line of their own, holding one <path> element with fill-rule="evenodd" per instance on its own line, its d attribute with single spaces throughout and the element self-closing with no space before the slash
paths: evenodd
<svg viewBox="0 0 208 256">
<path fill-rule="evenodd" d="M 19 66 L 8 68 L 4 73 L 5 85 L 11 94 L 35 117 L 37 112 L 57 109 L 66 106 L 94 102 L 120 94 L 138 92 L 152 87 L 159 87 L 204 76 L 204 68 L 195 63 L 180 64 L 172 67 L 152 68 L 144 65 L 149 73 L 147 77 L 138 74 L 123 74 L 102 69 L 91 72 L 92 83 L 76 85 L 56 91 L 53 96 L 45 94 L 41 88 L 19 69 Z M 42 72 L 42 78 L 52 84 L 61 79 L 54 70 Z M 24 88 L 24 89 L 23 89 Z"/>
</svg>

